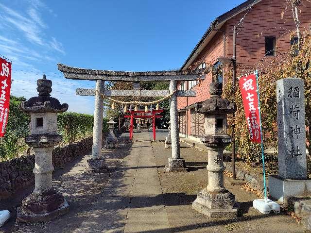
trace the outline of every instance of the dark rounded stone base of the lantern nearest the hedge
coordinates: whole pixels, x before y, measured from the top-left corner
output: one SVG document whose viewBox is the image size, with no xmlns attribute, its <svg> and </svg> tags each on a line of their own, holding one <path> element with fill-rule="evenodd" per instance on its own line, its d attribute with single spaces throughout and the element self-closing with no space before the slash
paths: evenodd
<svg viewBox="0 0 311 233">
<path fill-rule="evenodd" d="M 53 188 L 43 193 L 33 192 L 17 208 L 17 222 L 47 222 L 69 211 L 63 195 Z"/>
</svg>

